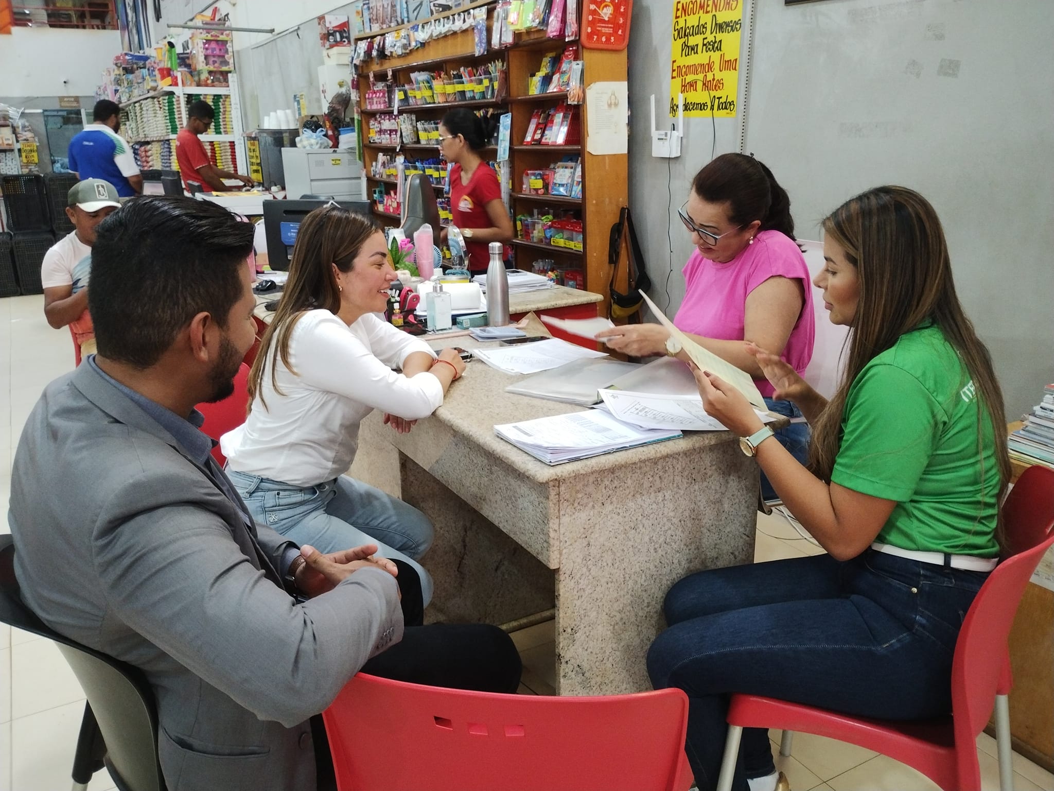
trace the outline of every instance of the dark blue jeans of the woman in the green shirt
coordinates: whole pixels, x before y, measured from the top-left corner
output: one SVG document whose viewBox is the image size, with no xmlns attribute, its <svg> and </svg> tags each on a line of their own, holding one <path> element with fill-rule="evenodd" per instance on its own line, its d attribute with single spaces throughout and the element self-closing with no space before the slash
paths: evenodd
<svg viewBox="0 0 1054 791">
<path fill-rule="evenodd" d="M 717 785 L 729 693 L 881 719 L 952 710 L 952 655 L 987 573 L 867 549 L 731 566 L 666 595 L 648 651 L 652 686 L 688 695 L 685 750 L 700 791 Z M 768 734 L 744 728 L 733 788 L 776 771 Z"/>
</svg>

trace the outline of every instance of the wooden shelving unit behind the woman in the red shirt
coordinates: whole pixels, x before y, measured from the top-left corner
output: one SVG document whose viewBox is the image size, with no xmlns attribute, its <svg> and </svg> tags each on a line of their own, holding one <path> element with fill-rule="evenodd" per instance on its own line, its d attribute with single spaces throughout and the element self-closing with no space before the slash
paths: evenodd
<svg viewBox="0 0 1054 791">
<path fill-rule="evenodd" d="M 492 22 L 493 3 L 488 5 L 488 25 Z M 364 34 L 359 38 L 377 35 Z M 489 38 L 489 34 L 488 34 Z M 531 114 L 539 108 L 555 107 L 567 101 L 566 92 L 551 94 L 528 94 L 530 75 L 538 71 L 542 57 L 546 53 L 562 53 L 569 44 L 578 45 L 578 41 L 549 39 L 544 31 L 529 31 L 516 34 L 512 46 L 503 50 L 476 55 L 473 33 L 463 31 L 451 36 L 433 39 L 423 47 L 408 55 L 388 58 L 382 61 L 363 63 L 358 67 L 360 79 L 359 96 L 360 114 L 363 116 L 363 134 L 366 136 L 366 124 L 372 116 L 394 112 L 391 109 L 369 110 L 365 107 L 366 91 L 369 77 L 378 80 L 391 80 L 397 84 L 409 83 L 410 72 L 445 71 L 449 72 L 464 65 L 477 62 L 503 60 L 506 66 L 506 83 L 508 96 L 502 100 L 463 100 L 436 104 L 410 104 L 401 107 L 399 113 L 414 113 L 421 119 L 438 119 L 447 110 L 456 107 L 468 108 L 507 108 L 512 115 L 510 136 L 510 177 L 509 195 L 510 212 L 513 218 L 518 214 L 531 214 L 535 209 L 549 207 L 553 210 L 569 211 L 583 221 L 583 250 L 544 245 L 526 239 L 513 239 L 512 250 L 515 265 L 521 269 L 530 269 L 539 258 L 552 258 L 558 267 L 581 268 L 585 273 L 585 287 L 605 297 L 602 310 L 606 313 L 608 307 L 608 282 L 610 278 L 608 266 L 608 237 L 611 226 L 619 219 L 619 212 L 628 202 L 628 158 L 625 154 L 594 156 L 586 150 L 587 111 L 579 105 L 579 124 L 581 144 L 578 146 L 524 146 L 523 139 L 530 122 Z M 578 45 L 577 57 L 585 62 L 585 84 L 598 80 L 625 80 L 627 75 L 626 51 L 608 52 L 586 50 Z M 408 156 L 422 158 L 419 152 L 437 153 L 435 146 L 421 144 L 377 144 L 364 143 L 363 167 L 370 173 L 379 152 L 404 151 Z M 544 169 L 561 160 L 569 154 L 577 154 L 582 162 L 582 198 L 570 198 L 558 195 L 534 195 L 521 192 L 521 182 L 525 170 Z M 496 157 L 494 147 L 483 152 L 485 159 Z M 372 187 L 377 185 L 395 186 L 394 179 L 367 177 Z M 438 189 L 438 188 L 437 188 Z M 376 215 L 382 221 L 393 223 L 397 218 L 377 210 Z M 625 287 L 625 284 L 622 284 Z"/>
</svg>

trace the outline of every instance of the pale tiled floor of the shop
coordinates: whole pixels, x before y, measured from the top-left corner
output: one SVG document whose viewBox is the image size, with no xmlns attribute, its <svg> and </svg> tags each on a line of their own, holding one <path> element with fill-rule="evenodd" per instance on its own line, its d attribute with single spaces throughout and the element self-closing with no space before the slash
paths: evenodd
<svg viewBox="0 0 1054 791">
<path fill-rule="evenodd" d="M 69 332 L 53 330 L 40 296 L 0 300 L 0 503 L 6 510 L 11 460 L 22 423 L 44 385 L 73 368 Z M 17 383 L 17 385 L 15 384 Z M 7 532 L 6 518 L 0 533 Z M 760 517 L 756 560 L 812 555 L 820 549 L 781 517 Z M 518 632 L 524 659 L 522 692 L 552 694 L 553 623 Z M 58 651 L 46 640 L 0 624 L 0 791 L 53 791 L 70 787 L 70 769 L 83 711 L 83 694 Z M 778 741 L 779 732 L 769 734 Z M 775 742 L 774 742 L 775 744 Z M 984 789 L 998 788 L 995 742 L 981 734 L 978 756 Z M 793 755 L 779 758 L 795 791 L 931 791 L 918 772 L 860 748 L 796 734 Z M 1054 775 L 1014 756 L 1018 791 L 1054 791 Z M 114 788 L 96 774 L 92 791 Z"/>
</svg>

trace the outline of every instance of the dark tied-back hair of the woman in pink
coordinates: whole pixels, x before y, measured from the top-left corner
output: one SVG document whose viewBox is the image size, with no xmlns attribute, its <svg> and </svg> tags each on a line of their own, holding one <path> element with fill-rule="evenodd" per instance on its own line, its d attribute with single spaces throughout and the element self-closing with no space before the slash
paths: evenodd
<svg viewBox="0 0 1054 791">
<path fill-rule="evenodd" d="M 773 172 L 753 156 L 722 154 L 711 159 L 696 174 L 691 189 L 709 204 L 728 204 L 728 219 L 740 228 L 758 219 L 759 231 L 779 231 L 794 238 L 790 198 Z"/>
</svg>

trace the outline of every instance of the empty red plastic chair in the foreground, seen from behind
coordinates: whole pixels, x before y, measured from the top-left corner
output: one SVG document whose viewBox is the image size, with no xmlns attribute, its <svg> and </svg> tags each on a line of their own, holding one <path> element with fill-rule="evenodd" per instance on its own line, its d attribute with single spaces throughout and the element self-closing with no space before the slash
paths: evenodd
<svg viewBox="0 0 1054 791">
<path fill-rule="evenodd" d="M 359 673 L 323 712 L 338 791 L 685 791 L 688 698 L 497 695 Z"/>
</svg>

